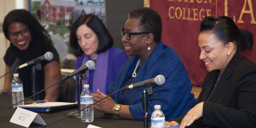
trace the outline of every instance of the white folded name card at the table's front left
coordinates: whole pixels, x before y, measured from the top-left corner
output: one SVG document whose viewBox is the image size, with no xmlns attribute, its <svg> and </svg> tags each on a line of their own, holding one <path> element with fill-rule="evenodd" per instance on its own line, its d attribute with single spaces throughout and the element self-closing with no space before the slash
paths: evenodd
<svg viewBox="0 0 256 128">
<path fill-rule="evenodd" d="M 45 121 L 36 112 L 28 111 L 23 108 L 17 108 L 14 112 L 10 122 L 24 127 L 29 127 L 29 125 L 34 122 L 41 125 L 46 125 Z"/>
</svg>

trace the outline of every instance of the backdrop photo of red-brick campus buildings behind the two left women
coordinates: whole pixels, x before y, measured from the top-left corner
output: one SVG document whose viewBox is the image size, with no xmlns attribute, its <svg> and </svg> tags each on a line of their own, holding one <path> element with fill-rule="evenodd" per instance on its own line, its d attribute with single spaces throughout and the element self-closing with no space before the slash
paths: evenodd
<svg viewBox="0 0 256 128">
<path fill-rule="evenodd" d="M 106 25 L 105 0 L 32 0 L 30 12 L 49 33 L 60 57 L 60 66 L 75 69 L 75 56 L 69 46 L 72 23 L 82 14 L 92 13 Z"/>
</svg>

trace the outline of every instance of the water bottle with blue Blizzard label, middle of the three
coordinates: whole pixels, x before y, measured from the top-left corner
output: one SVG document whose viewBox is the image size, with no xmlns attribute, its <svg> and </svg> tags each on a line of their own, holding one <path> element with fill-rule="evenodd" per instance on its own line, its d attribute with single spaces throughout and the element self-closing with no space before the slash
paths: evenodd
<svg viewBox="0 0 256 128">
<path fill-rule="evenodd" d="M 93 104 L 92 91 L 89 89 L 89 85 L 83 85 L 83 91 L 81 93 L 80 105 L 81 109 Z M 92 122 L 93 121 L 93 106 L 81 111 L 81 121 L 82 122 Z"/>
</svg>

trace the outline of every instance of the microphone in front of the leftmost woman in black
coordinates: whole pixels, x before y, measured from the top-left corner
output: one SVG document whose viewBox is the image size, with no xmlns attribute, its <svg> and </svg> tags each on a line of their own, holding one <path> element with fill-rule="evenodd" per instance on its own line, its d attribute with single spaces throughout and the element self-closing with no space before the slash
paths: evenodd
<svg viewBox="0 0 256 128">
<path fill-rule="evenodd" d="M 53 54 L 52 52 L 46 52 L 45 55 L 42 55 L 36 59 L 33 59 L 33 60 L 30 60 L 29 62 L 27 63 L 23 63 L 22 65 L 20 65 L 19 67 L 17 67 L 16 69 L 21 69 L 21 68 L 24 68 L 24 67 L 27 67 L 27 66 L 30 66 L 30 65 L 35 65 L 36 61 L 43 61 L 43 60 L 52 60 L 53 58 Z"/>
</svg>

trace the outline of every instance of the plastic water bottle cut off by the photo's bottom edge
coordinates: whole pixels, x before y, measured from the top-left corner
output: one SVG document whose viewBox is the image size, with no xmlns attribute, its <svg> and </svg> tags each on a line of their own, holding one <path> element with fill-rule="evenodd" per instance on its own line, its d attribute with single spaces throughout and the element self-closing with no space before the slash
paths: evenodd
<svg viewBox="0 0 256 128">
<path fill-rule="evenodd" d="M 154 108 L 155 111 L 151 115 L 151 128 L 165 128 L 165 117 L 161 111 L 161 105 L 155 105 Z"/>
</svg>

